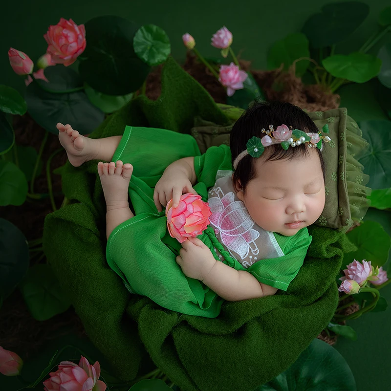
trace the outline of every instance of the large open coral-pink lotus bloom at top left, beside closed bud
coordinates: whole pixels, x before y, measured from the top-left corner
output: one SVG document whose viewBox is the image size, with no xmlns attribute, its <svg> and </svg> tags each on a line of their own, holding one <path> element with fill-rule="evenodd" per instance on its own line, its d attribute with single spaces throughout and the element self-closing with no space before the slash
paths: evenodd
<svg viewBox="0 0 391 391">
<path fill-rule="evenodd" d="M 43 36 L 47 44 L 47 53 L 52 56 L 56 64 L 71 65 L 86 48 L 86 30 L 84 24 L 78 26 L 72 19 L 64 18 L 55 26 L 49 26 L 49 30 Z"/>
</svg>

